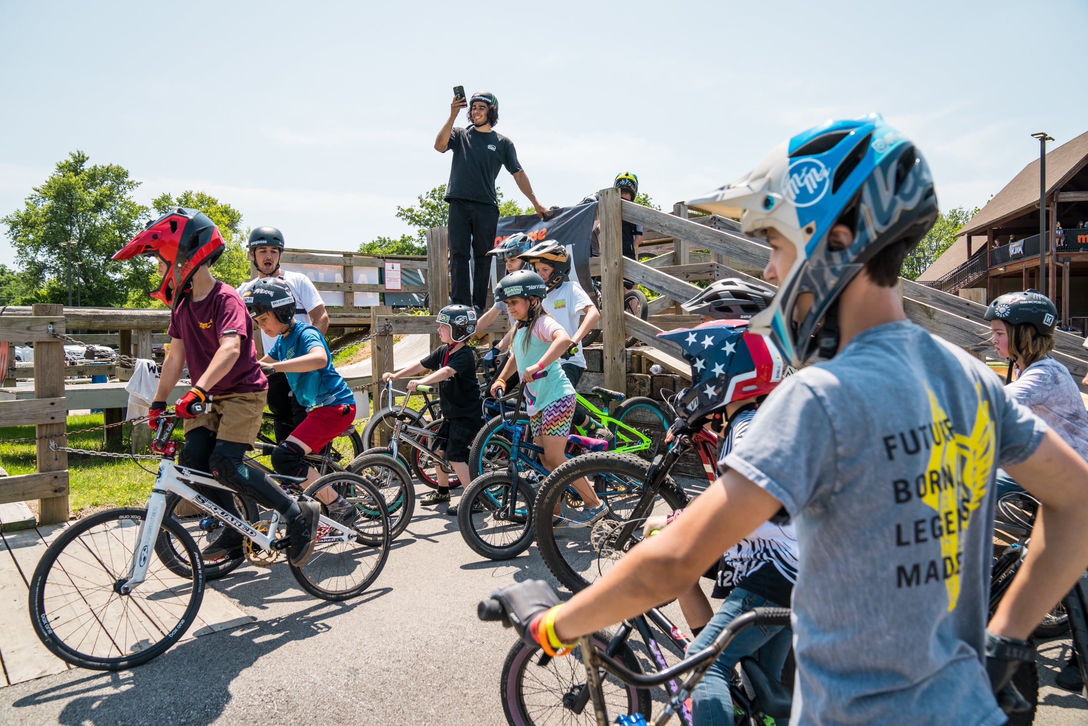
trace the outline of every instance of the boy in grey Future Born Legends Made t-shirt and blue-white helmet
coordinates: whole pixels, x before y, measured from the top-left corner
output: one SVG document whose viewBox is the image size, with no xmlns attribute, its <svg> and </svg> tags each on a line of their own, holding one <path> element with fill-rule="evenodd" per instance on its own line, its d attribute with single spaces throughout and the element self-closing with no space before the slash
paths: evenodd
<svg viewBox="0 0 1088 726">
<path fill-rule="evenodd" d="M 1023 639 L 1088 568 L 1088 464 L 981 364 L 906 320 L 898 275 L 937 217 L 922 155 L 877 114 L 832 121 L 688 205 L 741 208 L 780 285 L 753 330 L 795 368 L 830 360 L 776 389 L 731 470 L 568 603 L 544 583 L 497 593 L 511 622 L 527 641 L 570 644 L 677 596 L 789 516 L 793 726 L 1003 723 L 1023 701 L 1010 678 L 1035 657 Z M 999 464 L 1041 516 L 987 627 Z"/>
</svg>

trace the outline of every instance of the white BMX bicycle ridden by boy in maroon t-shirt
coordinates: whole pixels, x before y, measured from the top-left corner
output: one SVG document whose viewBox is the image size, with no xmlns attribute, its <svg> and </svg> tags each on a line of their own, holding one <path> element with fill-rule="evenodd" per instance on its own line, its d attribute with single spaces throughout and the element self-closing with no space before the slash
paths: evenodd
<svg viewBox="0 0 1088 726">
<path fill-rule="evenodd" d="M 270 559 L 288 545 L 288 539 L 280 536 L 284 526 L 280 513 L 271 512 L 267 525 L 250 525 L 191 488 L 225 489 L 210 475 L 174 463 L 177 445 L 169 439 L 175 423 L 175 417 L 164 416 L 152 440 L 152 451 L 162 457 L 147 507 L 110 509 L 73 524 L 34 570 L 30 622 L 46 648 L 66 663 L 98 670 L 134 667 L 164 653 L 193 624 L 203 598 L 203 566 L 193 538 L 164 516 L 169 494 L 236 529 Z M 298 483 L 297 478 L 279 478 Z M 313 554 L 300 566 L 288 563 L 304 590 L 330 601 L 367 590 L 385 566 L 390 550 L 385 503 L 361 477 L 329 475 L 308 487 L 306 494 L 314 496 L 338 483 L 350 484 L 356 501 L 378 516 L 348 527 L 329 518 L 323 508 Z M 156 544 L 166 534 L 185 552 L 185 562 L 161 558 Z"/>
</svg>

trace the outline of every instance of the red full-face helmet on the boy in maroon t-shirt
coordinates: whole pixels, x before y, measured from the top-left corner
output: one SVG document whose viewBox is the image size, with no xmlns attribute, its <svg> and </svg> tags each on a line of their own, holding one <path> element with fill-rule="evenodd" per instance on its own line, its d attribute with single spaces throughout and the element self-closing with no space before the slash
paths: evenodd
<svg viewBox="0 0 1088 726">
<path fill-rule="evenodd" d="M 193 274 L 201 264 L 211 264 L 223 254 L 225 245 L 219 227 L 199 209 L 175 207 L 148 222 L 147 226 L 122 247 L 115 260 L 127 260 L 137 255 L 157 257 L 166 263 L 159 288 L 151 297 L 171 307 L 177 307 L 182 295 L 190 286 Z"/>
</svg>

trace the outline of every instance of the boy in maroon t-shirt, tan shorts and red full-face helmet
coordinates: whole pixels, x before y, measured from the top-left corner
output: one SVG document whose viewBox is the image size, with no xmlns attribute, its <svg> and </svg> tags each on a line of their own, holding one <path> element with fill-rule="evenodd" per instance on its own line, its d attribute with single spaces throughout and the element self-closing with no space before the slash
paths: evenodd
<svg viewBox="0 0 1088 726">
<path fill-rule="evenodd" d="M 170 305 L 170 353 L 151 404 L 151 428 L 166 409 L 166 396 L 188 362 L 193 387 L 177 399 L 174 413 L 185 419 L 182 464 L 210 471 L 223 485 L 252 496 L 282 514 L 290 543 L 288 559 L 300 565 L 313 552 L 320 506 L 294 500 L 273 481 L 243 462 L 261 426 L 268 379 L 254 352 L 254 324 L 237 291 L 211 276 L 208 269 L 223 250 L 214 223 L 196 209 L 177 208 L 148 224 L 114 259 L 154 256 L 162 283 L 151 295 Z M 181 291 L 180 293 L 176 291 Z M 203 404 L 201 413 L 194 404 Z M 201 493 L 239 519 L 234 497 L 213 488 Z M 243 537 L 231 527 L 205 547 L 206 561 L 240 554 Z"/>
</svg>

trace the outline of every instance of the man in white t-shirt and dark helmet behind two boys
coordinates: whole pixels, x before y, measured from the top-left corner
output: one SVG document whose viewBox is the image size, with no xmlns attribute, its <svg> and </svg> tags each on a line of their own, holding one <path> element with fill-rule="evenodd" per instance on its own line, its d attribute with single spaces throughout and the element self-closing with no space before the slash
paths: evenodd
<svg viewBox="0 0 1088 726">
<path fill-rule="evenodd" d="M 258 280 L 279 278 L 287 285 L 295 297 L 295 320 L 314 325 L 322 334 L 329 330 L 329 313 L 321 294 L 310 279 L 301 272 L 280 269 L 280 255 L 283 253 L 283 233 L 274 226 L 259 226 L 249 233 L 249 259 L 257 278 L 238 285 L 238 294 L 243 297 Z M 264 353 L 272 349 L 276 339 L 261 331 L 261 344 Z M 269 379 L 268 405 L 275 417 L 272 428 L 276 442 L 285 440 L 295 427 L 306 418 L 306 408 L 295 401 L 287 383 L 286 373 L 272 373 Z"/>
</svg>

